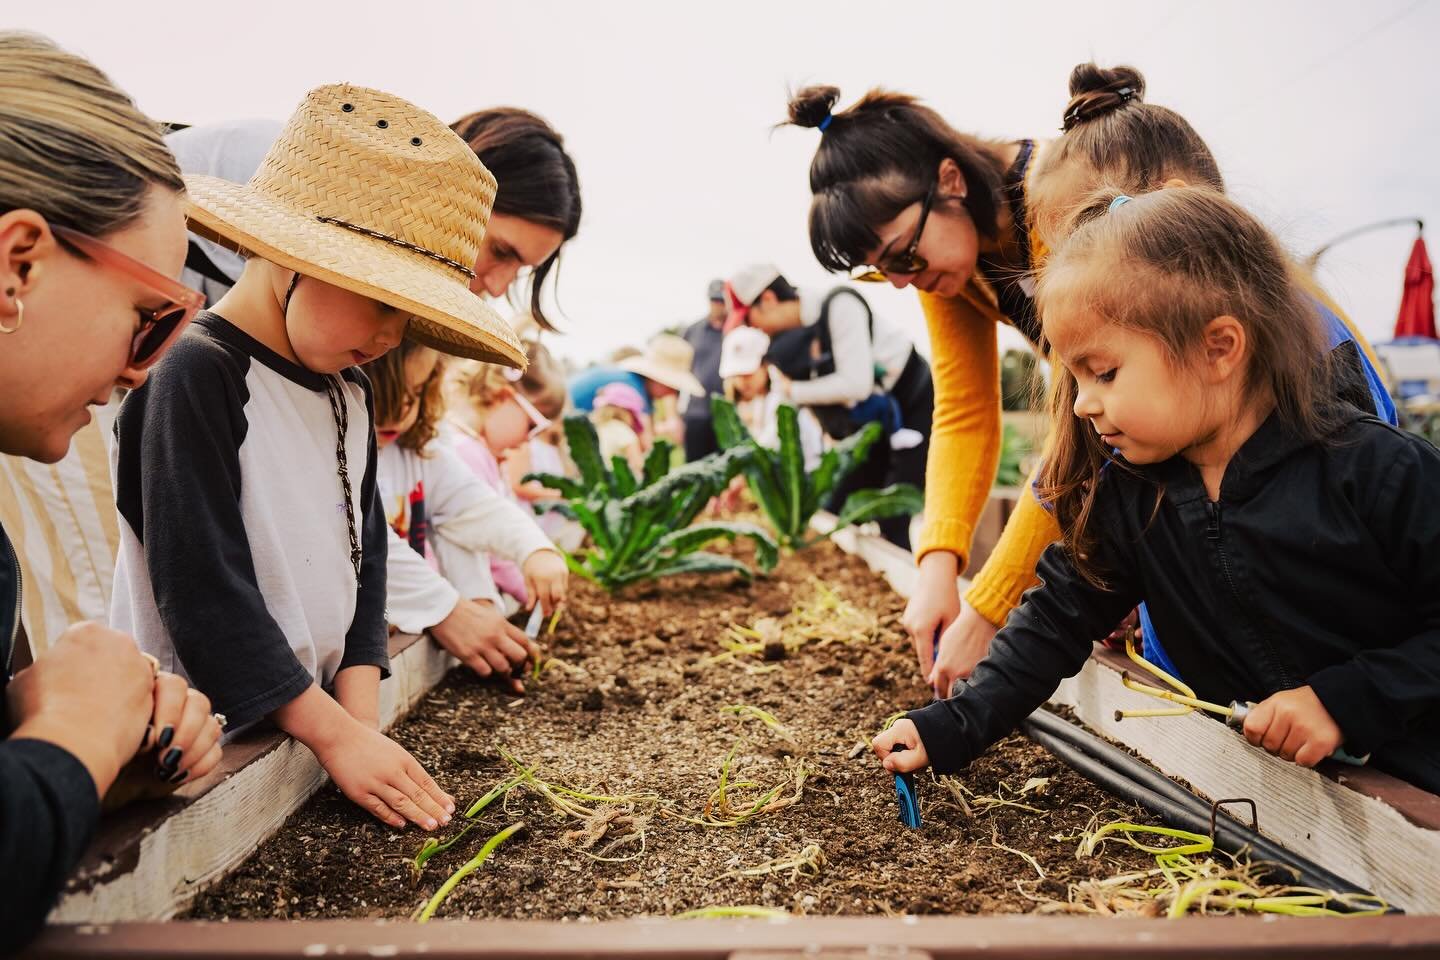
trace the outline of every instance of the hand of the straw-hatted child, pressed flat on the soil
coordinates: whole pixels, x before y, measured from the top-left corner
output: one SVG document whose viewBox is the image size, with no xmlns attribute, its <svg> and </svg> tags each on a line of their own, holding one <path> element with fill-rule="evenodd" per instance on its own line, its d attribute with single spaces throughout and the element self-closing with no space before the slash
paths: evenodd
<svg viewBox="0 0 1440 960">
<path fill-rule="evenodd" d="M 340 792 L 390 826 L 409 820 L 425 830 L 449 823 L 455 800 L 405 747 L 359 721 L 315 748 Z"/>
</svg>

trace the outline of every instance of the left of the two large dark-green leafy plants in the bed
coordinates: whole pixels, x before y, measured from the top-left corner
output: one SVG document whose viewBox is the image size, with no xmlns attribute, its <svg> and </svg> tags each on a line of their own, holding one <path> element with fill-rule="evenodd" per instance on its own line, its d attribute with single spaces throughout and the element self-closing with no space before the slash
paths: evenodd
<svg viewBox="0 0 1440 960">
<path fill-rule="evenodd" d="M 742 522 L 694 524 L 696 517 L 750 458 L 736 449 L 671 469 L 672 445 L 658 440 L 635 476 L 622 456 L 606 466 L 600 440 L 585 416 L 564 419 L 564 436 L 579 478 L 530 474 L 563 498 L 541 507 L 577 521 L 590 547 L 580 557 L 566 557 L 570 569 L 606 590 L 680 573 L 739 573 L 750 569 L 733 557 L 701 550 L 716 540 L 750 540 L 762 571 L 779 558 L 775 540 L 760 527 Z"/>
</svg>

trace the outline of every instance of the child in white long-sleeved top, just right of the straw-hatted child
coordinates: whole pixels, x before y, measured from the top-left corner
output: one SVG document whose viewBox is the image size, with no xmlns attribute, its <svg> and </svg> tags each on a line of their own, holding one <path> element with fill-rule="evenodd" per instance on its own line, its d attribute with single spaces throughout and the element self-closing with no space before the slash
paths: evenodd
<svg viewBox="0 0 1440 960">
<path fill-rule="evenodd" d="M 380 501 L 393 531 L 389 620 L 408 633 L 429 630 L 481 676 L 508 676 L 523 692 L 517 668 L 534 649 L 505 613 L 518 603 L 553 613 L 569 581 L 564 558 L 520 504 L 438 439 L 445 407 L 436 351 L 405 343 L 364 370 L 374 390 Z M 500 584 L 516 593 L 503 594 Z"/>
</svg>

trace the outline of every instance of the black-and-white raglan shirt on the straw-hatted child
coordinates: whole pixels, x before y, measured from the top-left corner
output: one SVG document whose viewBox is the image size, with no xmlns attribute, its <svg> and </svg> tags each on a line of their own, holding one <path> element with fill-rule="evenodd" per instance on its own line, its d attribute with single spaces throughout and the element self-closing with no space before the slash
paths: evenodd
<svg viewBox="0 0 1440 960">
<path fill-rule="evenodd" d="M 370 383 L 340 380 L 359 584 L 323 374 L 203 312 L 121 404 L 111 625 L 229 733 L 347 666 L 389 665 Z"/>
</svg>

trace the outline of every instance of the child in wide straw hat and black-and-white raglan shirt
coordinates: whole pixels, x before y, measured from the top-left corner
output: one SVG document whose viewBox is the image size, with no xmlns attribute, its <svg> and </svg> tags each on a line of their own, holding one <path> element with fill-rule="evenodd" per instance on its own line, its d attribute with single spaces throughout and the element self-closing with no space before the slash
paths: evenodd
<svg viewBox="0 0 1440 960">
<path fill-rule="evenodd" d="M 193 230 L 249 255 L 117 423 L 112 620 L 233 733 L 269 718 L 351 800 L 436 829 L 454 800 L 379 731 L 386 537 L 369 381 L 410 337 L 523 364 L 469 292 L 495 181 L 379 91 L 311 91 L 246 184 L 187 177 Z"/>
</svg>

